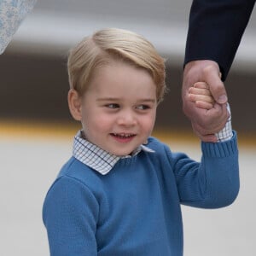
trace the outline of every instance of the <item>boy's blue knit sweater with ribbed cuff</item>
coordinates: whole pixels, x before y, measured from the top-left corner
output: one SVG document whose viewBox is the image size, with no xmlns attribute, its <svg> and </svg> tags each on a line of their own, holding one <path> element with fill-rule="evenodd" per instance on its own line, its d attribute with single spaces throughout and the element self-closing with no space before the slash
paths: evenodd
<svg viewBox="0 0 256 256">
<path fill-rule="evenodd" d="M 154 137 L 103 176 L 71 158 L 44 201 L 52 256 L 181 256 L 180 204 L 218 208 L 239 190 L 236 132 L 201 143 L 201 163 L 173 153 Z"/>
</svg>

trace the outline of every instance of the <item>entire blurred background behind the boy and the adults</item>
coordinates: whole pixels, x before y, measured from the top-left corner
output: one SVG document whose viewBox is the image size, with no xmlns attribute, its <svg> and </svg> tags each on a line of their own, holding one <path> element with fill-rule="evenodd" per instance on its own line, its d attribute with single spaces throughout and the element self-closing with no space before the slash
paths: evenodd
<svg viewBox="0 0 256 256">
<path fill-rule="evenodd" d="M 67 51 L 97 29 L 138 32 L 166 57 L 170 91 L 158 109 L 155 135 L 200 160 L 181 101 L 191 2 L 41 0 L 22 22 L 0 55 L 1 255 L 49 255 L 41 221 L 44 195 L 79 129 L 67 109 Z M 233 206 L 217 211 L 183 207 L 185 256 L 256 255 L 255 12 L 225 83 L 240 137 L 241 193 Z"/>
</svg>

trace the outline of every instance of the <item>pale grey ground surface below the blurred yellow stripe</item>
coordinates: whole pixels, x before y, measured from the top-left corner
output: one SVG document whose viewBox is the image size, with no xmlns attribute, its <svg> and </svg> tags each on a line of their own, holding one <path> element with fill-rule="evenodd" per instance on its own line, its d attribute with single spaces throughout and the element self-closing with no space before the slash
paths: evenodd
<svg viewBox="0 0 256 256">
<path fill-rule="evenodd" d="M 49 185 L 71 154 L 72 138 L 2 134 L 0 141 L 0 255 L 49 255 L 41 209 Z M 199 145 L 167 143 L 199 159 Z M 184 256 L 256 255 L 255 154 L 256 147 L 240 148 L 241 191 L 231 207 L 183 207 Z"/>
</svg>

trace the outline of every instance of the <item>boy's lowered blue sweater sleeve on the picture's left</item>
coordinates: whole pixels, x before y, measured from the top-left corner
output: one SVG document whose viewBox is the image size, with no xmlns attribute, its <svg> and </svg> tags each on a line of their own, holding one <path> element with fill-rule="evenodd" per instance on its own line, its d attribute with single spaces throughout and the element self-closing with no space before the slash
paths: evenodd
<svg viewBox="0 0 256 256">
<path fill-rule="evenodd" d="M 90 190 L 73 177 L 60 177 L 46 195 L 44 225 L 51 256 L 97 255 L 99 206 Z"/>
</svg>

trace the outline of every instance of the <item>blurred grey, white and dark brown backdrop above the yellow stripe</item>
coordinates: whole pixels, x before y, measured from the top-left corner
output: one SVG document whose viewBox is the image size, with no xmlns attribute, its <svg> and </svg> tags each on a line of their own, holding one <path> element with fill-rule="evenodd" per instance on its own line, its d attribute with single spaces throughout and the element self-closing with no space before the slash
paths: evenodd
<svg viewBox="0 0 256 256">
<path fill-rule="evenodd" d="M 141 33 L 166 57 L 170 91 L 160 104 L 156 126 L 190 130 L 180 94 L 190 4 L 178 0 L 38 1 L 0 55 L 0 119 L 72 122 L 67 109 L 67 51 L 85 35 L 111 26 Z M 233 126 L 244 133 L 256 131 L 255 12 L 226 81 Z"/>
</svg>

